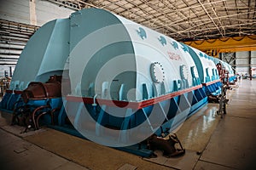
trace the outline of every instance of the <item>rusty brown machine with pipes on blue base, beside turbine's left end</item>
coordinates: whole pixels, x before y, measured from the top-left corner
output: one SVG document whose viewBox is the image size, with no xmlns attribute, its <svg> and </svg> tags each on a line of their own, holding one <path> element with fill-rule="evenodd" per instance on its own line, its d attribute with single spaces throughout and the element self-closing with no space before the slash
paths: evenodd
<svg viewBox="0 0 256 170">
<path fill-rule="evenodd" d="M 44 116 L 44 123 L 54 125 L 56 112 L 61 110 L 61 77 L 49 77 L 49 81 L 30 82 L 15 102 L 12 124 L 28 128 L 39 128 L 39 119 Z M 26 132 L 26 130 L 24 132 Z"/>
</svg>

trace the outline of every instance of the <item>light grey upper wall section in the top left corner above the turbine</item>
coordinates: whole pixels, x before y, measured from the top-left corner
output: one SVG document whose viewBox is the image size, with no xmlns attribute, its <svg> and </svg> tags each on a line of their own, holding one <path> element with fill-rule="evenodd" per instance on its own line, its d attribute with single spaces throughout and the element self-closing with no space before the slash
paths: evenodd
<svg viewBox="0 0 256 170">
<path fill-rule="evenodd" d="M 44 0 L 0 0 L 0 4 L 1 19 L 36 26 L 42 26 L 49 20 L 67 18 L 74 12 Z"/>
</svg>

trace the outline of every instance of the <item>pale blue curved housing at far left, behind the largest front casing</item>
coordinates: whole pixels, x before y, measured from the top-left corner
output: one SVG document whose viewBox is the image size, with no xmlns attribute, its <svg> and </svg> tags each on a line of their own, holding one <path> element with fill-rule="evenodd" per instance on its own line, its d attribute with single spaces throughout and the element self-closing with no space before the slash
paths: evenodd
<svg viewBox="0 0 256 170">
<path fill-rule="evenodd" d="M 68 19 L 52 20 L 38 29 L 20 54 L 10 88 L 0 104 L 2 110 L 12 112 L 30 82 L 47 82 L 50 76 L 62 75 L 69 54 L 68 40 Z"/>
</svg>

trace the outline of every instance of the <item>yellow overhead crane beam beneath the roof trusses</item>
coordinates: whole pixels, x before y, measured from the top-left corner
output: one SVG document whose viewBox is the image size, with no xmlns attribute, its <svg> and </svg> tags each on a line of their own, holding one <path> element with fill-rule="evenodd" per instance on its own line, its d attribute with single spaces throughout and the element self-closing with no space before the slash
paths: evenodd
<svg viewBox="0 0 256 170">
<path fill-rule="evenodd" d="M 208 55 L 218 57 L 218 53 L 256 51 L 256 35 L 245 37 L 221 37 L 218 39 L 183 42 L 200 49 Z"/>
</svg>

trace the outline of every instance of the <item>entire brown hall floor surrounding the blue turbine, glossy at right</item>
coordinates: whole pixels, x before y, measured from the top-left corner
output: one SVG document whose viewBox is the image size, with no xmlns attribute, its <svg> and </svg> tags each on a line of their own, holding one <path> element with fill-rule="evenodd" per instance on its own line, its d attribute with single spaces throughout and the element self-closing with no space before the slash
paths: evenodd
<svg viewBox="0 0 256 170">
<path fill-rule="evenodd" d="M 145 159 L 49 128 L 20 134 L 1 113 L 0 169 L 256 169 L 256 80 L 236 83 L 229 95 L 224 118 L 208 104 L 177 128 L 186 148 L 179 158 L 157 150 Z"/>
</svg>

